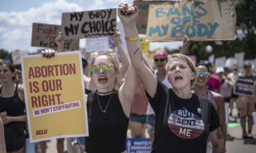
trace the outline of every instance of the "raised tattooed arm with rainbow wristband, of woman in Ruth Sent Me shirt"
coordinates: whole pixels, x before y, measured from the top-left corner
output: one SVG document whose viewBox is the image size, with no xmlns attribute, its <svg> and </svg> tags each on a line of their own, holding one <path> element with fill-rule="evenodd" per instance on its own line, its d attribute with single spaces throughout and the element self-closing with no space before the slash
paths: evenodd
<svg viewBox="0 0 256 153">
<path fill-rule="evenodd" d="M 137 7 L 133 7 L 128 3 L 121 3 L 118 7 L 118 16 L 124 25 L 126 44 L 131 63 L 147 92 L 151 97 L 154 97 L 156 93 L 157 81 L 152 71 L 146 67 L 143 61 L 143 56 L 139 45 L 139 35 L 135 25 L 135 18 L 138 16 L 138 14 L 139 10 Z"/>
</svg>

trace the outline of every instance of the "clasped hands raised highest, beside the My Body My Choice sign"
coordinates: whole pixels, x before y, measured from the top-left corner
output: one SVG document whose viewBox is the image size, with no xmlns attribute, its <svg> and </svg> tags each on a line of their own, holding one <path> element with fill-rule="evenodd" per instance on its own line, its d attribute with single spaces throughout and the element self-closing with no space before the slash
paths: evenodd
<svg viewBox="0 0 256 153">
<path fill-rule="evenodd" d="M 118 16 L 123 24 L 135 22 L 135 18 L 139 14 L 137 6 L 132 6 L 128 3 L 120 3 L 118 6 Z"/>
</svg>

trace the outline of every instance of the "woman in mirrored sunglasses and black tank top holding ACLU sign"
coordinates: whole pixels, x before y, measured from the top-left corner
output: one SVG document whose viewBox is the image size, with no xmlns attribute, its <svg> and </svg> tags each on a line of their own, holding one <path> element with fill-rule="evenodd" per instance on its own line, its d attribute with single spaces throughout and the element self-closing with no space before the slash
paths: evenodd
<svg viewBox="0 0 256 153">
<path fill-rule="evenodd" d="M 43 56 L 52 56 L 45 50 Z M 119 78 L 119 60 L 115 53 L 100 52 L 89 63 L 96 91 L 87 95 L 89 137 L 85 137 L 85 152 L 126 152 L 126 135 L 130 107 L 137 88 L 137 74 L 132 65 L 126 80 L 115 90 Z"/>
</svg>

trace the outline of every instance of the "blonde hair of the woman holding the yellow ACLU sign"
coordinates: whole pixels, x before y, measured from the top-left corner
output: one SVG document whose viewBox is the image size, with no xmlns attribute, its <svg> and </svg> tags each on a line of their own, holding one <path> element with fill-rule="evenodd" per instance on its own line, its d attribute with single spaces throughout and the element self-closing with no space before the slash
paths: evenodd
<svg viewBox="0 0 256 153">
<path fill-rule="evenodd" d="M 94 62 L 96 61 L 96 58 L 98 56 L 109 56 L 111 63 L 113 63 L 114 67 L 115 67 L 115 71 L 119 71 L 119 60 L 117 58 L 117 55 L 115 54 L 114 50 L 106 50 L 104 52 L 98 52 L 98 54 L 96 54 L 95 56 L 93 56 L 91 58 L 91 61 L 89 63 L 89 67 L 91 67 L 92 65 L 94 65 Z"/>
</svg>

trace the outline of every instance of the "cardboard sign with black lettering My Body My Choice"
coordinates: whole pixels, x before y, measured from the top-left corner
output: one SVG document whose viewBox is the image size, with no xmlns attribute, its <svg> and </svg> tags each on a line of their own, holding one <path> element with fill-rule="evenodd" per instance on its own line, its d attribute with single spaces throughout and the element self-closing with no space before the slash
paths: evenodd
<svg viewBox="0 0 256 153">
<path fill-rule="evenodd" d="M 61 33 L 64 39 L 111 36 L 116 16 L 116 9 L 63 13 Z"/>
</svg>

